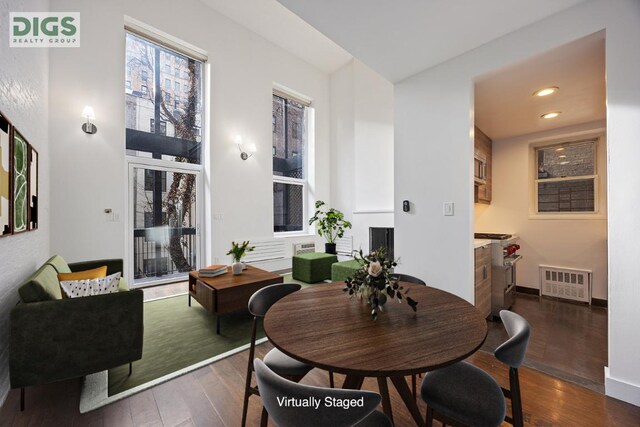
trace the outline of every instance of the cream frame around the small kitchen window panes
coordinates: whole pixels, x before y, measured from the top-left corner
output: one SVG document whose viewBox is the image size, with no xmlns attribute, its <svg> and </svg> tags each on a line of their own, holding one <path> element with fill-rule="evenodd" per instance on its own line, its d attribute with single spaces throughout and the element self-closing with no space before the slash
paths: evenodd
<svg viewBox="0 0 640 427">
<path fill-rule="evenodd" d="M 552 220 L 578 220 L 578 219 L 604 219 L 606 218 L 606 212 L 601 209 L 600 191 L 601 191 L 601 178 L 605 174 L 603 170 L 600 170 L 601 156 L 600 152 L 603 135 L 579 135 L 572 138 L 555 139 L 552 141 L 545 141 L 540 143 L 532 143 L 529 148 L 529 219 L 552 219 Z M 538 178 L 538 151 L 548 150 L 550 148 L 567 147 L 570 145 L 578 145 L 584 143 L 593 143 L 593 174 L 592 175 L 576 175 L 559 178 Z M 552 183 L 552 182 L 564 182 L 564 181 L 578 181 L 578 180 L 593 180 L 593 211 L 539 211 L 538 210 L 538 184 L 540 183 Z M 606 210 L 606 208 L 605 208 Z"/>
</svg>

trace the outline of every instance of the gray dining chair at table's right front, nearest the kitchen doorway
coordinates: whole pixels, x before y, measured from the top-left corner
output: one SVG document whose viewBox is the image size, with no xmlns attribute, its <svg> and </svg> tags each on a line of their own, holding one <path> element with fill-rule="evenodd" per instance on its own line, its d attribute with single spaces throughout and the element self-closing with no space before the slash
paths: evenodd
<svg viewBox="0 0 640 427">
<path fill-rule="evenodd" d="M 485 371 L 467 362 L 429 372 L 422 381 L 422 399 L 427 403 L 427 426 L 438 419 L 446 424 L 498 426 L 507 421 L 522 427 L 522 400 L 518 367 L 522 365 L 531 326 L 519 314 L 500 311 L 509 339 L 494 352 L 509 366 L 509 389 L 502 388 Z M 511 399 L 512 416 L 506 415 L 505 398 Z"/>
</svg>

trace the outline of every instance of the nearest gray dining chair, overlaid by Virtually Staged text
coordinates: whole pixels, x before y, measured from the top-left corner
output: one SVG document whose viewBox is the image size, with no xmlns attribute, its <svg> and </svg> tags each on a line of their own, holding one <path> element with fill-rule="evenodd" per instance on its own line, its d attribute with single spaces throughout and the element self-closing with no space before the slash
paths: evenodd
<svg viewBox="0 0 640 427">
<path fill-rule="evenodd" d="M 382 400 L 378 393 L 298 384 L 280 377 L 260 359 L 253 363 L 262 404 L 278 427 L 392 426 L 389 418 L 376 410 Z M 345 409 L 334 403 L 346 401 L 362 404 Z M 302 406 L 300 402 L 314 406 Z"/>
</svg>

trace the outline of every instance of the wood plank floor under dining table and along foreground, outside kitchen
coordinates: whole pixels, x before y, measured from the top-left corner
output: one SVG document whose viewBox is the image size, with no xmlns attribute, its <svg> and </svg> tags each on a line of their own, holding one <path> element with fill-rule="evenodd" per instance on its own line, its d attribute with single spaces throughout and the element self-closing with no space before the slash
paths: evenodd
<svg viewBox="0 0 640 427">
<path fill-rule="evenodd" d="M 258 347 L 262 357 L 271 344 Z M 2 409 L 0 426 L 228 426 L 240 425 L 242 390 L 248 352 L 146 390 L 88 414 L 78 413 L 80 381 L 64 381 L 27 390 L 27 409 L 19 410 L 20 393 L 12 390 Z M 478 352 L 470 361 L 507 384 L 504 365 Z M 605 397 L 544 373 L 521 369 L 525 421 L 528 426 L 638 426 L 640 408 Z M 341 379 L 341 376 L 337 376 Z M 306 384 L 327 386 L 327 374 L 313 370 Z M 377 391 L 377 383 L 365 381 Z M 392 387 L 391 387 L 392 388 Z M 413 425 L 400 397 L 392 390 L 397 426 Z M 421 411 L 425 406 L 420 403 Z M 249 426 L 259 425 L 260 401 L 252 397 Z"/>
</svg>

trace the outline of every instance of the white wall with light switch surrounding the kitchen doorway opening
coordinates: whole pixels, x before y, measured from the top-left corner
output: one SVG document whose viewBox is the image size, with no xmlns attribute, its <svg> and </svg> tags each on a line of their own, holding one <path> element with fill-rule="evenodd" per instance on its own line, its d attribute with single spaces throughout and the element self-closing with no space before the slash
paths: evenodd
<svg viewBox="0 0 640 427">
<path fill-rule="evenodd" d="M 396 248 L 428 283 L 473 298 L 473 80 L 606 29 L 609 159 L 608 395 L 640 405 L 640 3 L 592 0 L 408 78 L 395 87 Z M 401 166 L 401 167 L 400 167 Z M 453 217 L 442 204 L 455 202 Z"/>
</svg>

